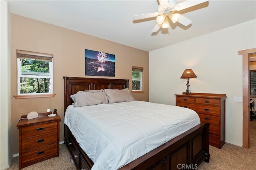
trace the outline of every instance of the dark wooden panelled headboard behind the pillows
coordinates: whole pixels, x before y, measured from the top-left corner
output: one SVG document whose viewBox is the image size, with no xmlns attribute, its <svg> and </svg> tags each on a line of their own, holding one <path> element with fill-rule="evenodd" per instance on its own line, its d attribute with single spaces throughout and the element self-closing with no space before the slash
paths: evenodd
<svg viewBox="0 0 256 170">
<path fill-rule="evenodd" d="M 63 77 L 64 78 L 64 111 L 73 103 L 70 95 L 83 90 L 100 89 L 125 89 L 128 88 L 129 80 L 109 78 L 85 78 L 85 77 Z"/>
</svg>

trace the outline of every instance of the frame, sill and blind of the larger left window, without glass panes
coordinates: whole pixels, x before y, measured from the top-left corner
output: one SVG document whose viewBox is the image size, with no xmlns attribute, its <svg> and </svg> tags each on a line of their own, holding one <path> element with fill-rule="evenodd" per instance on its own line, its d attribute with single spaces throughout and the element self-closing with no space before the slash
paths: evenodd
<svg viewBox="0 0 256 170">
<path fill-rule="evenodd" d="M 22 75 L 22 59 L 49 61 L 49 73 L 35 73 L 35 74 L 23 74 Z M 45 75 L 44 75 L 45 74 Z M 49 92 L 46 93 L 20 93 L 20 78 L 49 78 L 50 88 Z M 54 97 L 53 94 L 53 55 L 46 53 L 37 53 L 31 51 L 17 50 L 17 96 L 16 98 L 41 98 L 41 97 Z"/>
</svg>

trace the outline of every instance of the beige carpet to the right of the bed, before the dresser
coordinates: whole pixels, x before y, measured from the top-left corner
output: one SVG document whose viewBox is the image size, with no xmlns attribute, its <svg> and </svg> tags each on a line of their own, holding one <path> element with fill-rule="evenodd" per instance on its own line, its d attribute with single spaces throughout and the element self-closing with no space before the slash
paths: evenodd
<svg viewBox="0 0 256 170">
<path fill-rule="evenodd" d="M 256 169 L 256 119 L 250 121 L 250 148 L 230 143 L 222 149 L 210 146 L 210 162 L 202 162 L 197 170 L 255 170 Z"/>
</svg>

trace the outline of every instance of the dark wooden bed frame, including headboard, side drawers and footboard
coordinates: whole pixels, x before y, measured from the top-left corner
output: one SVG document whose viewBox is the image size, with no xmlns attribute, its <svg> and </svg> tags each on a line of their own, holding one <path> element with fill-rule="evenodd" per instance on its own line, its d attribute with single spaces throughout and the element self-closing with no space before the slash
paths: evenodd
<svg viewBox="0 0 256 170">
<path fill-rule="evenodd" d="M 64 111 L 72 104 L 70 95 L 82 90 L 124 89 L 129 80 L 107 78 L 64 78 Z M 79 170 L 90 170 L 92 160 L 82 150 L 69 128 L 64 125 L 66 143 L 74 164 Z M 175 170 L 196 169 L 202 161 L 209 162 L 209 124 L 201 123 L 164 143 L 160 147 L 126 164 L 120 170 Z"/>
</svg>

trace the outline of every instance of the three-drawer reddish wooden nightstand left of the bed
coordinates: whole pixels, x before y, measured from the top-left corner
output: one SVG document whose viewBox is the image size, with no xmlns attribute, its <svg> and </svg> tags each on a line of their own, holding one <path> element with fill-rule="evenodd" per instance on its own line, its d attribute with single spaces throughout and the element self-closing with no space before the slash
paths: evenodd
<svg viewBox="0 0 256 170">
<path fill-rule="evenodd" d="M 60 116 L 48 114 L 39 113 L 38 118 L 18 121 L 20 169 L 59 156 Z"/>
</svg>

